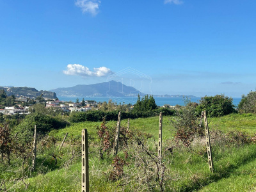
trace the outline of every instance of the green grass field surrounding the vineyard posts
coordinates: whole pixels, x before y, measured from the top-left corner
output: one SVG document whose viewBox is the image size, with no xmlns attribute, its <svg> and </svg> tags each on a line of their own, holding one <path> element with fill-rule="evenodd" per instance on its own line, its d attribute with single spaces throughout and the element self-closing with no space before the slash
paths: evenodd
<svg viewBox="0 0 256 192">
<path fill-rule="evenodd" d="M 255 144 L 227 144 L 216 136 L 212 141 L 214 173 L 211 173 L 207 164 L 204 138 L 196 138 L 191 150 L 177 145 L 170 118 L 172 117 L 163 118 L 164 191 L 256 191 Z M 208 122 L 211 132 L 219 130 L 225 134 L 230 131 L 244 131 L 248 136 L 256 133 L 256 115 L 252 114 L 209 118 Z M 0 188 L 6 191 L 81 191 L 81 156 L 77 153 L 71 158 L 74 150 L 79 150 L 81 130 L 88 129 L 90 191 L 160 191 L 159 182 L 156 182 L 154 161 L 143 153 L 137 143 L 129 143 L 129 157 L 122 177 L 115 181 L 109 180 L 109 173 L 113 170 L 113 156 L 105 154 L 103 160 L 99 158 L 96 127 L 100 125 L 100 122 L 83 122 L 51 131 L 49 135 L 58 138 L 58 143 L 56 147 L 45 150 L 40 150 L 39 147 L 36 172 L 29 172 L 30 163 L 27 163 L 22 173 L 20 160 L 12 159 L 10 166 L 0 165 Z M 107 122 L 106 125 L 115 127 L 116 122 Z M 126 127 L 127 120 L 122 120 L 121 125 Z M 148 140 L 147 145 L 150 145 L 152 154 L 156 155 L 158 126 L 158 116 L 130 120 L 130 129 L 138 129 L 154 136 L 154 139 Z M 54 164 L 51 154 L 58 152 L 58 145 L 66 132 L 67 142 L 58 153 L 58 163 Z M 173 154 L 167 150 L 170 147 L 173 147 Z M 122 158 L 123 149 L 120 148 Z"/>
</svg>

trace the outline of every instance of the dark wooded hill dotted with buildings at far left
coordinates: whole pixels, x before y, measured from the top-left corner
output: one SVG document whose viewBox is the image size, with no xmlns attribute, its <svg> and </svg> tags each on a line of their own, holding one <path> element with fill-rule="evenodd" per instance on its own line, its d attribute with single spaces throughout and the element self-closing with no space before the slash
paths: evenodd
<svg viewBox="0 0 256 192">
<path fill-rule="evenodd" d="M 42 97 L 49 98 L 49 99 L 56 99 L 56 93 L 54 92 L 48 92 L 48 91 L 38 91 L 35 88 L 30 87 L 13 87 L 13 86 L 0 86 L 0 90 L 4 90 L 6 92 L 6 95 L 14 95 L 15 97 L 29 97 L 31 99 L 35 99 L 36 97 L 40 96 L 42 94 Z"/>
</svg>

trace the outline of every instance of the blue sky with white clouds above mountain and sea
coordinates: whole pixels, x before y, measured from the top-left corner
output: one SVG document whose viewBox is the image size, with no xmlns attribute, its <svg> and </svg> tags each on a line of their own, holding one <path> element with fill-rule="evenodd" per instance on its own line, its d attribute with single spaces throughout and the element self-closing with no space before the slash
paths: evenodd
<svg viewBox="0 0 256 192">
<path fill-rule="evenodd" d="M 254 0 L 0 0 L 0 86 L 101 83 L 129 67 L 151 77 L 150 93 L 241 97 L 256 87 L 255 8 Z"/>
</svg>

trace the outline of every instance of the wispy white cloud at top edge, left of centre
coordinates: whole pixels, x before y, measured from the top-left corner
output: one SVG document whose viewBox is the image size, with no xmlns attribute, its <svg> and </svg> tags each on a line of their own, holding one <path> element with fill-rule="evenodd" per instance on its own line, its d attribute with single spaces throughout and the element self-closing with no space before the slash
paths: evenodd
<svg viewBox="0 0 256 192">
<path fill-rule="evenodd" d="M 92 15 L 97 15 L 99 13 L 99 4 L 98 0 L 76 0 L 75 5 L 81 8 L 82 12 L 88 12 Z"/>
</svg>

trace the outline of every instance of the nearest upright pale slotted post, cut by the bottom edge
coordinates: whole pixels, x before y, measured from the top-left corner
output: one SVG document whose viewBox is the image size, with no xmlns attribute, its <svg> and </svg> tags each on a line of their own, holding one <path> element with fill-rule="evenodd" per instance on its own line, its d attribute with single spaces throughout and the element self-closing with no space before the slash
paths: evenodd
<svg viewBox="0 0 256 192">
<path fill-rule="evenodd" d="M 88 132 L 82 130 L 82 192 L 89 191 Z"/>
</svg>

